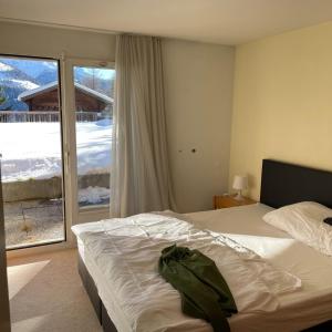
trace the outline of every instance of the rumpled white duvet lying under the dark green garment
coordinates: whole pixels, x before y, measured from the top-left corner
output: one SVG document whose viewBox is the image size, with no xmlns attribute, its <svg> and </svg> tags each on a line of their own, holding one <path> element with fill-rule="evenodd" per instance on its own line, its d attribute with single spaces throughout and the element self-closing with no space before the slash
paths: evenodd
<svg viewBox="0 0 332 332">
<path fill-rule="evenodd" d="M 301 287 L 299 278 L 230 238 L 198 230 L 178 217 L 143 214 L 72 227 L 133 331 L 211 331 L 205 321 L 181 313 L 179 293 L 158 274 L 160 252 L 173 243 L 198 249 L 216 262 L 241 313 L 274 311 L 278 294 Z"/>
</svg>

